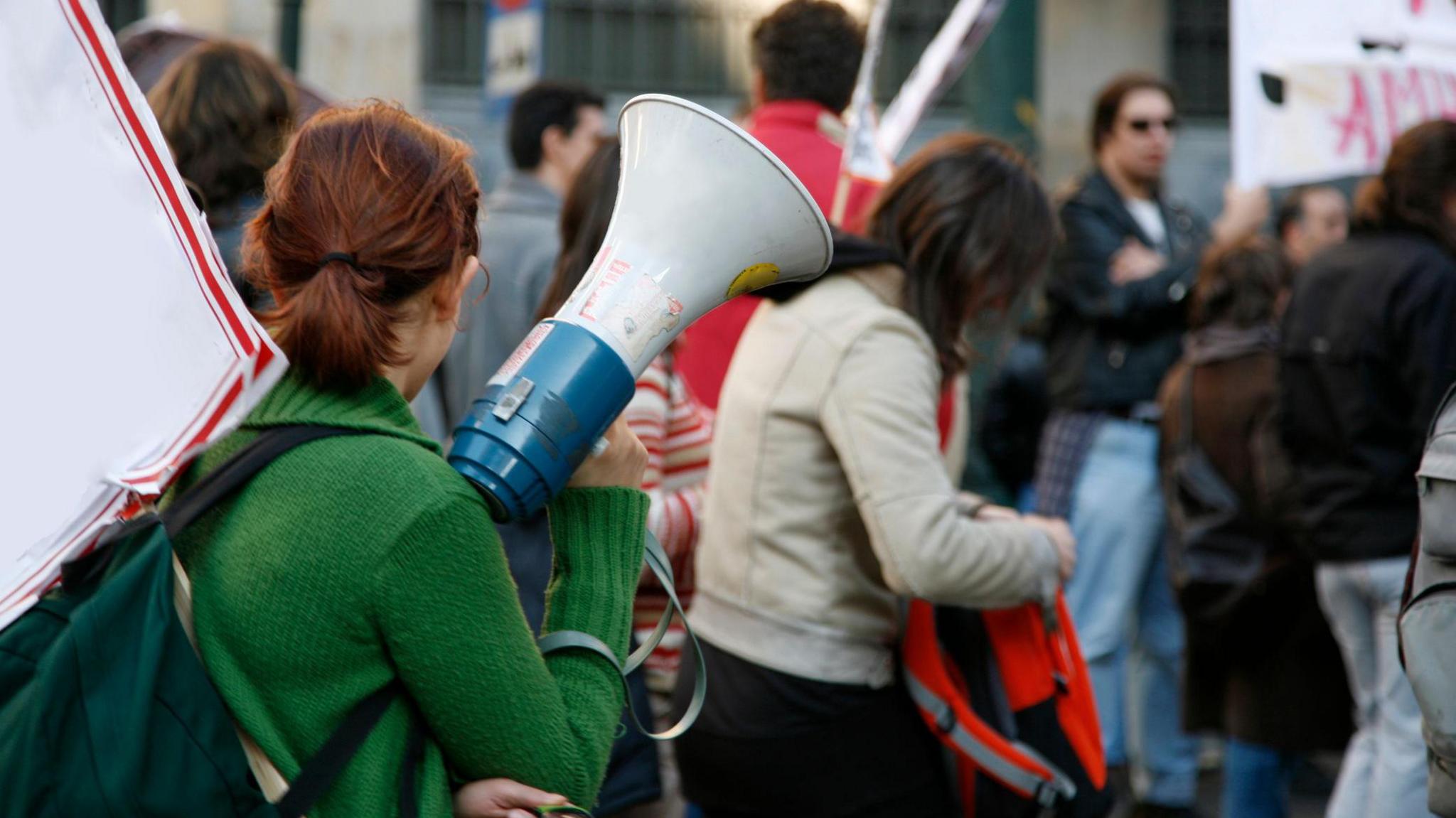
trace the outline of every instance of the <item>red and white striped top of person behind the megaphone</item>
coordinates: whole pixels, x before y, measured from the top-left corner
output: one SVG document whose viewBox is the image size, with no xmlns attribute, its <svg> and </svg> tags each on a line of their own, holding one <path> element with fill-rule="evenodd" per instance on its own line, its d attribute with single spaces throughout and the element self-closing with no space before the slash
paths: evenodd
<svg viewBox="0 0 1456 818">
<path fill-rule="evenodd" d="M 702 515 L 713 415 L 673 371 L 671 352 L 665 352 L 638 378 L 636 394 L 623 416 L 646 447 L 642 491 L 652 498 L 648 527 L 673 563 L 677 595 L 686 608 L 693 597 L 693 546 Z M 668 605 L 657 578 L 644 571 L 632 617 L 638 639 L 652 633 Z M 683 639 L 683 624 L 674 620 L 661 646 L 646 661 L 648 687 L 652 690 L 673 688 Z"/>
</svg>

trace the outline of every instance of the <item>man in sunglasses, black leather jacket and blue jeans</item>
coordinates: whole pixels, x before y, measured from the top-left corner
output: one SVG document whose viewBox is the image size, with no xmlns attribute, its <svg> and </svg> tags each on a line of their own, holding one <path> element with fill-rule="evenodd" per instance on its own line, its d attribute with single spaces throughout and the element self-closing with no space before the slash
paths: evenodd
<svg viewBox="0 0 1456 818">
<path fill-rule="evenodd" d="M 1096 98 L 1096 164 L 1061 205 L 1047 284 L 1053 413 L 1037 467 L 1037 511 L 1066 517 L 1077 539 L 1067 601 L 1108 764 L 1142 769 L 1140 817 L 1191 814 L 1197 785 L 1197 745 L 1179 728 L 1184 629 L 1163 560 L 1155 399 L 1181 352 L 1204 247 L 1257 231 L 1268 213 L 1264 191 L 1227 189 L 1210 229 L 1163 198 L 1176 130 L 1174 90 L 1158 77 L 1124 74 Z"/>
</svg>

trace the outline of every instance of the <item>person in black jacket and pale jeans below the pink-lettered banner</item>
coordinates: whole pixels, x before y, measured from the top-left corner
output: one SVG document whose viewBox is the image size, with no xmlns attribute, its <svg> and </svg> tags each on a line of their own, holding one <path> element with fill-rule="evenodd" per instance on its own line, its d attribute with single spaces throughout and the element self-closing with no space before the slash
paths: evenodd
<svg viewBox="0 0 1456 818">
<path fill-rule="evenodd" d="M 1427 122 L 1360 191 L 1354 233 L 1299 277 L 1280 349 L 1281 437 L 1319 562 L 1357 732 L 1332 818 L 1425 815 L 1420 710 L 1395 617 L 1415 541 L 1415 469 L 1456 380 L 1456 122 Z"/>
</svg>

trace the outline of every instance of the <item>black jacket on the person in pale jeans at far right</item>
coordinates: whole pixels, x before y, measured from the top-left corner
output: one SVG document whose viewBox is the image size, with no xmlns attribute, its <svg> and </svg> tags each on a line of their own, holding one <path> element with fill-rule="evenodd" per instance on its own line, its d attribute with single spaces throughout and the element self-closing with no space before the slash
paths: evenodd
<svg viewBox="0 0 1456 818">
<path fill-rule="evenodd" d="M 1356 233 L 1294 277 L 1283 336 L 1300 533 L 1321 560 L 1408 555 L 1427 426 L 1456 381 L 1456 258 L 1420 233 Z"/>
</svg>

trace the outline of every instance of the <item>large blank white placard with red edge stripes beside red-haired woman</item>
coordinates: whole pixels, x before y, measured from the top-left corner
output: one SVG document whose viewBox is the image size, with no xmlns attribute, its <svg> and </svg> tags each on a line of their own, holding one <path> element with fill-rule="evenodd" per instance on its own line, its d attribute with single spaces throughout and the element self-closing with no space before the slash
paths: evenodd
<svg viewBox="0 0 1456 818">
<path fill-rule="evenodd" d="M 287 365 L 92 0 L 0 3 L 0 627 Z"/>
</svg>

